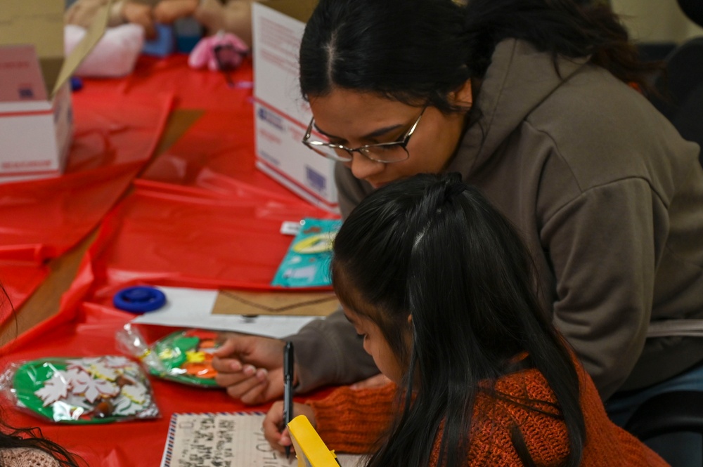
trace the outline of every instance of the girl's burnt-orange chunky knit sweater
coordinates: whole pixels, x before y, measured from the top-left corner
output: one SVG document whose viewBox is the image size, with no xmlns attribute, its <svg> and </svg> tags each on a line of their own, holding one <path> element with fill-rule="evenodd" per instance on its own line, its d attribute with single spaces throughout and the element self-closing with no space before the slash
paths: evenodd
<svg viewBox="0 0 703 467">
<path fill-rule="evenodd" d="M 588 467 L 651 466 L 668 464 L 651 449 L 608 419 L 591 381 L 579 365 L 581 409 L 586 422 L 586 443 L 581 465 Z M 498 392 L 517 399 L 556 402 L 547 381 L 536 369 L 519 371 L 496 382 Z M 368 454 L 399 410 L 395 405 L 396 386 L 352 390 L 339 388 L 328 397 L 309 404 L 314 409 L 317 430 L 330 449 L 337 452 Z M 548 404 L 539 409 L 557 412 Z M 510 401 L 496 400 L 486 394 L 477 396 L 474 428 L 470 439 L 468 466 L 522 466 L 510 441 L 510 426 L 515 423 L 538 465 L 560 466 L 569 452 L 564 422 Z M 437 465 L 439 439 L 434 444 L 431 465 Z"/>
</svg>

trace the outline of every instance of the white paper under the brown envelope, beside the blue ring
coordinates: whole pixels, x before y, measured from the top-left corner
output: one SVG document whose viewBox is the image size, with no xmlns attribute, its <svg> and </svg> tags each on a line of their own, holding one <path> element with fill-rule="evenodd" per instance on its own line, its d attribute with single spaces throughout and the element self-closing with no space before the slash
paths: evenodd
<svg viewBox="0 0 703 467">
<path fill-rule="evenodd" d="M 162 308 L 139 315 L 132 322 L 173 327 L 196 327 L 217 331 L 238 331 L 258 336 L 283 338 L 297 333 L 316 316 L 245 317 L 242 315 L 213 315 L 217 290 L 185 287 L 157 287 L 166 295 Z"/>
</svg>

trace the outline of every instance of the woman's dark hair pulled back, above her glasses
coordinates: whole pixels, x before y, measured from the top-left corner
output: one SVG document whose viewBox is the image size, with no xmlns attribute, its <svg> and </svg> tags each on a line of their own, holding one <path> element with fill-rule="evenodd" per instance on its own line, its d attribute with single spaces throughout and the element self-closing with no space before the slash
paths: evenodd
<svg viewBox="0 0 703 467">
<path fill-rule="evenodd" d="M 638 59 L 626 28 L 602 2 L 321 0 L 300 46 L 300 88 L 306 98 L 337 86 L 451 112 L 459 109 L 448 94 L 482 79 L 507 38 L 529 41 L 555 60 L 591 55 L 645 91 L 659 68 Z"/>
</svg>

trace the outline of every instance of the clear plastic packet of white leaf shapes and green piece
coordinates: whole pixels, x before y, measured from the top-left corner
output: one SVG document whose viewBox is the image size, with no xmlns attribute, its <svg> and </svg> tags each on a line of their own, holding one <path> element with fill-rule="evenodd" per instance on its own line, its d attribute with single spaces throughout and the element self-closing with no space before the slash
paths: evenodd
<svg viewBox="0 0 703 467">
<path fill-rule="evenodd" d="M 0 387 L 17 407 L 60 423 L 111 423 L 160 416 L 146 373 L 122 355 L 13 363 Z"/>
</svg>

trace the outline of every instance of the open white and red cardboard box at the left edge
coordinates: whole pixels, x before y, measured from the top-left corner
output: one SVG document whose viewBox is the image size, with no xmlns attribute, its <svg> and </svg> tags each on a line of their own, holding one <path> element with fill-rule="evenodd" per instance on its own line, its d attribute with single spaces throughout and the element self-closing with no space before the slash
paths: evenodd
<svg viewBox="0 0 703 467">
<path fill-rule="evenodd" d="M 0 182 L 62 173 L 73 132 L 70 77 L 108 23 L 110 5 L 64 57 L 64 2 L 2 0 Z"/>
</svg>

